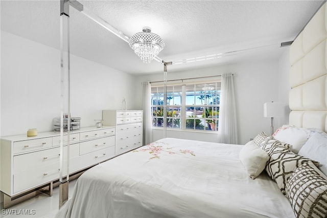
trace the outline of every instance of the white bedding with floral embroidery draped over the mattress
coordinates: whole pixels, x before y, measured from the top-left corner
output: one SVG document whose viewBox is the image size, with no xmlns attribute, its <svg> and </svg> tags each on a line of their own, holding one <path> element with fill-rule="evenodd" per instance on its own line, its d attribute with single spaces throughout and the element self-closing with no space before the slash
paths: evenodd
<svg viewBox="0 0 327 218">
<path fill-rule="evenodd" d="M 266 173 L 247 175 L 241 148 L 161 139 L 87 170 L 57 217 L 294 217 Z"/>
</svg>

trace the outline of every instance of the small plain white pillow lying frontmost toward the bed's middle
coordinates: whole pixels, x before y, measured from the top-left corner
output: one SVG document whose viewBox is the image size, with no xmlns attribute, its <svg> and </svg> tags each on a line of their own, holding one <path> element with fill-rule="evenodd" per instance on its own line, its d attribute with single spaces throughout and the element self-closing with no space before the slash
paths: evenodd
<svg viewBox="0 0 327 218">
<path fill-rule="evenodd" d="M 269 156 L 252 140 L 243 146 L 239 158 L 250 178 L 255 179 L 265 169 Z"/>
</svg>

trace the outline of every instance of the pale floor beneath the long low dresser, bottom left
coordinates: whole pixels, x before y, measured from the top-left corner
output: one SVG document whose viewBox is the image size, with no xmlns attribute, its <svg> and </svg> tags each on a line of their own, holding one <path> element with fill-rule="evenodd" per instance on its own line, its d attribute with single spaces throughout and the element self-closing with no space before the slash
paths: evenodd
<svg viewBox="0 0 327 218">
<path fill-rule="evenodd" d="M 69 181 L 68 196 L 71 197 L 77 180 Z M 34 198 L 16 204 L 10 208 L 2 209 L 0 217 L 27 217 L 27 218 L 52 218 L 55 217 L 59 208 L 59 186 L 53 189 L 52 197 L 46 194 L 39 194 Z M 21 214 L 24 211 L 28 214 Z M 11 212 L 11 214 L 10 214 Z"/>
</svg>

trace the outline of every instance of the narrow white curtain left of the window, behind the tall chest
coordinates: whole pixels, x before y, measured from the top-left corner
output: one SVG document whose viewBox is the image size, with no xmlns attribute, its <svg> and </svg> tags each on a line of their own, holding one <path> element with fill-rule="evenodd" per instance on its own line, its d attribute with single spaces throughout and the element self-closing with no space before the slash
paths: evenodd
<svg viewBox="0 0 327 218">
<path fill-rule="evenodd" d="M 143 82 L 142 110 L 143 110 L 143 144 L 152 142 L 152 120 L 151 120 L 151 84 Z"/>
</svg>

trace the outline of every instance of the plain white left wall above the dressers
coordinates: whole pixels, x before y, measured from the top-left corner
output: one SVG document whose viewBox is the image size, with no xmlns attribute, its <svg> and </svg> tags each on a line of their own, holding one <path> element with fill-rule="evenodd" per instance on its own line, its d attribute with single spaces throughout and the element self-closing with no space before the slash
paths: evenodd
<svg viewBox="0 0 327 218">
<path fill-rule="evenodd" d="M 1 136 L 52 131 L 60 116 L 60 51 L 4 31 L 1 45 Z M 139 109 L 134 80 L 72 55 L 71 115 L 82 118 L 82 127 L 94 125 L 102 110 L 121 109 L 123 97 L 129 109 Z"/>
</svg>

